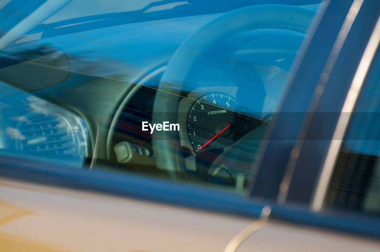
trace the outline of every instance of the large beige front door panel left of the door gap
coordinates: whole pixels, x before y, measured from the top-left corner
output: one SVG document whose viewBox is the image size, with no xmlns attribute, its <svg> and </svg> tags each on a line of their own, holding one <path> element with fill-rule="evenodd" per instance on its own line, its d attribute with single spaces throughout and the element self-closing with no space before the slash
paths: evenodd
<svg viewBox="0 0 380 252">
<path fill-rule="evenodd" d="M 223 251 L 255 220 L 5 178 L 0 195 L 0 241 L 57 251 Z"/>
</svg>

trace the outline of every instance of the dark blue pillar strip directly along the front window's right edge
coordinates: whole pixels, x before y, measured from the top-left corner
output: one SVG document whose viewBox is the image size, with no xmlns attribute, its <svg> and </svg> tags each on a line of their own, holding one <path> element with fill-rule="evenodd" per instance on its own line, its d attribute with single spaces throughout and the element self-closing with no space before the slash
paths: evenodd
<svg viewBox="0 0 380 252">
<path fill-rule="evenodd" d="M 256 163 L 258 172 L 250 185 L 251 197 L 278 200 L 280 184 L 291 152 L 299 140 L 299 134 L 304 134 L 308 129 L 303 125 L 304 120 L 312 115 L 310 104 L 314 99 L 316 87 L 353 2 L 355 0 L 325 2 L 327 7 L 320 20 L 314 23 L 315 27 L 310 28 L 314 30 L 313 37 L 307 44 L 302 45 L 306 49 L 304 55 L 298 58 L 298 62 L 294 62 L 293 76 L 290 76 L 288 81 L 291 83 L 288 93 L 262 159 Z M 292 124 L 289 124 L 289 121 Z M 273 153 L 276 153 L 275 157 Z M 288 180 L 291 180 L 292 176 L 293 174 L 288 174 Z"/>
</svg>

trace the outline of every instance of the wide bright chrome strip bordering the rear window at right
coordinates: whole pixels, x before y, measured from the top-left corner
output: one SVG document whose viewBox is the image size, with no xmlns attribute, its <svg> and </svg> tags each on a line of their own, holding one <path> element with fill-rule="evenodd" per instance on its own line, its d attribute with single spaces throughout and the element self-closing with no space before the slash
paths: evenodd
<svg viewBox="0 0 380 252">
<path fill-rule="evenodd" d="M 350 89 L 348 90 L 342 111 L 340 112 L 337 126 L 332 136 L 326 159 L 322 166 L 320 177 L 318 179 L 317 187 L 313 195 L 312 203 L 310 206 L 312 211 L 321 211 L 324 206 L 326 192 L 331 180 L 332 171 L 334 169 L 340 147 L 342 146 L 343 137 L 350 121 L 351 112 L 355 107 L 369 67 L 374 59 L 375 53 L 377 52 L 379 42 L 380 18 L 377 20 L 374 31 L 372 32 L 366 49 L 364 50 L 363 57 L 360 60 L 358 69 L 356 70 Z"/>
</svg>

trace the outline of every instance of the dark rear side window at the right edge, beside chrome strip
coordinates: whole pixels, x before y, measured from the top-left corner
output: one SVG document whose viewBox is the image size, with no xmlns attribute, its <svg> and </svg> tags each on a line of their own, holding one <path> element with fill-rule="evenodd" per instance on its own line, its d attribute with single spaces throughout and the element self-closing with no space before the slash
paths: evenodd
<svg viewBox="0 0 380 252">
<path fill-rule="evenodd" d="M 380 58 L 348 125 L 326 196 L 328 207 L 380 215 Z"/>
</svg>

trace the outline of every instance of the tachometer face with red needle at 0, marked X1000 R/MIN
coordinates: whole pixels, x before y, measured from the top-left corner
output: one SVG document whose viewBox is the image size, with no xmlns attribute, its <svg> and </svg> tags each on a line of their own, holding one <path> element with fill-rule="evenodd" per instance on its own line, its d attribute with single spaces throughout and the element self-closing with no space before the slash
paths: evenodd
<svg viewBox="0 0 380 252">
<path fill-rule="evenodd" d="M 252 131 L 260 122 L 245 115 L 235 98 L 207 93 L 192 103 L 187 115 L 188 140 L 194 152 L 224 148 Z"/>
</svg>

